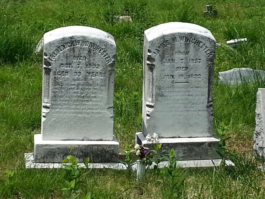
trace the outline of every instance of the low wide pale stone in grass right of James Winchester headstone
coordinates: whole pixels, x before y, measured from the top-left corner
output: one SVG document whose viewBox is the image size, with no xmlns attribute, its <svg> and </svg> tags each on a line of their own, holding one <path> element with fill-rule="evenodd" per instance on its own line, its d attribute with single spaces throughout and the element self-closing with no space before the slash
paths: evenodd
<svg viewBox="0 0 265 199">
<path fill-rule="evenodd" d="M 265 80 L 265 71 L 252 68 L 233 68 L 228 71 L 218 73 L 219 81 L 226 84 L 241 84 L 249 81 Z"/>
</svg>

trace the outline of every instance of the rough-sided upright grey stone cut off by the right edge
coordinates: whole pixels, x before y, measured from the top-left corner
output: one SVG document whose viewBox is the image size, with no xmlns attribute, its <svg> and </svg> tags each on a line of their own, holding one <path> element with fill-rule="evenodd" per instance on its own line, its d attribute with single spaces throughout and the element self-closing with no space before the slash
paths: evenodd
<svg viewBox="0 0 265 199">
<path fill-rule="evenodd" d="M 258 88 L 256 104 L 256 128 L 253 136 L 254 155 L 265 158 L 265 88 Z"/>
</svg>

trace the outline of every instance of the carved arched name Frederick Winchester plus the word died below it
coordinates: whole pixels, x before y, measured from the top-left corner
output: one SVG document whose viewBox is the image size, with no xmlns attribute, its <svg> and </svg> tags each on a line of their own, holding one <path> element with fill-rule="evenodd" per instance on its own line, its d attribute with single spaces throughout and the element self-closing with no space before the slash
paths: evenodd
<svg viewBox="0 0 265 199">
<path fill-rule="evenodd" d="M 103 47 L 89 41 L 84 40 L 74 40 L 66 42 L 65 44 L 61 44 L 56 47 L 54 51 L 47 57 L 48 60 L 54 61 L 55 58 L 60 54 L 60 52 L 67 50 L 69 48 L 75 47 L 75 46 L 81 46 L 81 47 L 88 47 L 93 51 L 96 51 L 98 54 L 102 55 L 102 57 L 105 59 L 105 62 L 107 64 L 110 64 L 112 62 L 111 57 L 108 53 L 104 50 Z M 47 55 L 46 55 L 47 56 Z M 86 56 L 75 56 L 74 59 L 77 60 L 86 60 Z"/>
</svg>

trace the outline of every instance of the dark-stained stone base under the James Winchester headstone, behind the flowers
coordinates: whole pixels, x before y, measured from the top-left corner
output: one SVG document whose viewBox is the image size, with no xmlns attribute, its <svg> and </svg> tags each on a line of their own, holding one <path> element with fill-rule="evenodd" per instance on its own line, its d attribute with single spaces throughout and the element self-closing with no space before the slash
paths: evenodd
<svg viewBox="0 0 265 199">
<path fill-rule="evenodd" d="M 142 132 L 136 133 L 136 143 L 145 147 L 150 144 L 145 140 Z M 214 137 L 192 137 L 192 138 L 160 138 L 162 150 L 165 154 L 169 153 L 171 148 L 176 150 L 176 158 L 180 160 L 205 160 L 220 159 L 221 157 L 213 150 L 218 149 L 219 140 Z"/>
</svg>

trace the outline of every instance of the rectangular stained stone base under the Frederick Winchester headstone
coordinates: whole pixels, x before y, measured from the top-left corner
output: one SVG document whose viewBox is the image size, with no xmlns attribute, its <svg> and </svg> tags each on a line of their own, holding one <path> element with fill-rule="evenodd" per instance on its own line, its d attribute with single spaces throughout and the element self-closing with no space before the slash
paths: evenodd
<svg viewBox="0 0 265 199">
<path fill-rule="evenodd" d="M 113 141 L 81 141 L 81 140 L 42 140 L 41 134 L 34 135 L 34 162 L 60 163 L 70 148 L 71 155 L 78 162 L 89 157 L 91 162 L 119 162 L 119 142 L 113 135 Z"/>
</svg>

